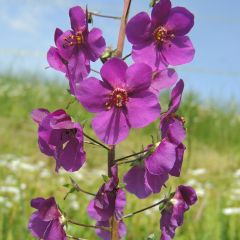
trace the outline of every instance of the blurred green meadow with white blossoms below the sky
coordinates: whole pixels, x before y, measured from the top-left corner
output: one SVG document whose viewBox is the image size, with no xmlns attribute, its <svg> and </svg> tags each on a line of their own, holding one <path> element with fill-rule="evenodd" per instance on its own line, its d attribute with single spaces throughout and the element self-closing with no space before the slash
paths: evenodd
<svg viewBox="0 0 240 240">
<path fill-rule="evenodd" d="M 86 214 L 89 196 L 73 193 L 63 201 L 69 174 L 54 172 L 55 162 L 40 153 L 36 125 L 30 118 L 33 108 L 52 110 L 65 108 L 72 100 L 66 85 L 56 81 L 33 81 L 32 78 L 0 77 L 0 239 L 33 239 L 27 230 L 33 211 L 29 202 L 37 196 L 55 195 L 61 208 L 81 223 L 93 224 Z M 186 82 L 187 84 L 187 82 Z M 163 102 L 166 106 L 166 96 Z M 171 178 L 170 187 L 187 183 L 197 189 L 198 203 L 185 215 L 184 226 L 177 231 L 178 240 L 240 239 L 240 117 L 229 103 L 202 103 L 195 94 L 185 93 L 181 113 L 185 116 L 188 137 L 187 152 L 181 178 Z M 85 121 L 89 134 L 91 115 L 77 103 L 68 112 L 77 121 Z M 117 148 L 124 156 L 151 141 L 158 133 L 158 123 L 144 130 L 132 131 L 128 140 Z M 79 185 L 96 192 L 106 173 L 106 152 L 86 146 L 88 160 L 83 169 L 72 174 Z M 128 166 L 121 167 L 122 173 Z M 137 200 L 128 194 L 126 213 L 153 204 L 164 192 L 147 200 Z M 158 208 L 126 219 L 126 239 L 147 239 L 154 233 L 159 239 Z M 69 227 L 72 235 L 97 239 L 94 231 Z"/>
</svg>

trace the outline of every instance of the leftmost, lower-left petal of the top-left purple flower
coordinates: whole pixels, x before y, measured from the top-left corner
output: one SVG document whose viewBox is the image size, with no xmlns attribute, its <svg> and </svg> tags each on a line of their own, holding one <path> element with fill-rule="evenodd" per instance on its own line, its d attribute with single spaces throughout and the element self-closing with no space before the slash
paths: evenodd
<svg viewBox="0 0 240 240">
<path fill-rule="evenodd" d="M 55 70 L 63 73 L 67 72 L 67 61 L 61 57 L 57 48 L 50 47 L 47 52 L 47 61 L 50 67 Z"/>
</svg>

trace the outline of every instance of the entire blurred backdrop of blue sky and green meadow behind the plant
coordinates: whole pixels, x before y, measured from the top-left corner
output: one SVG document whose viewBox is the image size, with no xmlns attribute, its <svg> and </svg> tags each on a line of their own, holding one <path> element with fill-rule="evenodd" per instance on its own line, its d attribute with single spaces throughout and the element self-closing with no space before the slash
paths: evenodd
<svg viewBox="0 0 240 240">
<path fill-rule="evenodd" d="M 195 60 L 177 68 L 185 80 L 186 91 L 180 113 L 185 117 L 187 151 L 181 178 L 171 178 L 168 189 L 189 184 L 199 201 L 185 215 L 177 230 L 177 240 L 240 240 L 240 18 L 238 0 L 180 1 L 195 14 L 191 32 L 196 47 Z M 43 155 L 37 145 L 37 126 L 30 117 L 33 108 L 66 108 L 73 98 L 61 74 L 46 70 L 46 51 L 53 44 L 56 26 L 67 29 L 68 8 L 76 4 L 90 10 L 119 16 L 120 0 L 0 0 L 0 240 L 30 240 L 27 230 L 33 209 L 29 202 L 37 196 L 55 195 L 61 208 L 81 223 L 93 224 L 86 214 L 89 196 L 74 192 L 63 200 L 69 174 L 54 171 L 55 161 Z M 148 0 L 133 0 L 131 15 L 149 11 Z M 94 18 L 103 28 L 108 45 L 115 47 L 117 21 Z M 125 54 L 130 45 L 126 44 Z M 100 63 L 93 65 L 100 68 Z M 161 96 L 167 108 L 168 92 Z M 91 114 L 74 102 L 68 112 L 84 122 L 89 134 Z M 134 130 L 117 148 L 117 157 L 141 150 L 158 134 L 158 122 L 144 130 Z M 106 152 L 87 145 L 88 160 L 83 169 L 71 174 L 78 184 L 96 192 L 106 173 Z M 127 169 L 122 165 L 120 171 Z M 165 191 L 167 192 L 168 189 Z M 164 196 L 137 200 L 128 194 L 125 213 L 153 204 Z M 159 239 L 159 211 L 154 208 L 126 219 L 127 240 Z M 74 236 L 96 239 L 91 229 L 70 227 Z"/>
</svg>

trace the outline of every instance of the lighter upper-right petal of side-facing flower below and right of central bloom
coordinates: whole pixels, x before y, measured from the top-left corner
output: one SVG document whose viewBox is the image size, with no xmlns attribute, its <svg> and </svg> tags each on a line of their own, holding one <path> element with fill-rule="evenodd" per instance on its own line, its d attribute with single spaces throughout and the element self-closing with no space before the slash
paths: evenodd
<svg viewBox="0 0 240 240">
<path fill-rule="evenodd" d="M 162 140 L 156 150 L 146 159 L 145 165 L 151 174 L 168 174 L 176 160 L 176 145 Z"/>
</svg>

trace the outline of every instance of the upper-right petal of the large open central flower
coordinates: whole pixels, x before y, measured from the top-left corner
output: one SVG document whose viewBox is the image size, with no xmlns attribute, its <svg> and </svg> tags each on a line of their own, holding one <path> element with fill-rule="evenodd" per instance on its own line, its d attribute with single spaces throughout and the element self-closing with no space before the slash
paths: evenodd
<svg viewBox="0 0 240 240">
<path fill-rule="evenodd" d="M 135 63 L 126 71 L 126 90 L 129 93 L 147 90 L 151 85 L 152 69 L 144 63 Z"/>
</svg>

